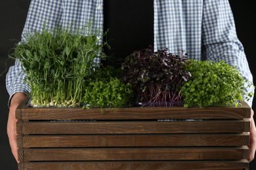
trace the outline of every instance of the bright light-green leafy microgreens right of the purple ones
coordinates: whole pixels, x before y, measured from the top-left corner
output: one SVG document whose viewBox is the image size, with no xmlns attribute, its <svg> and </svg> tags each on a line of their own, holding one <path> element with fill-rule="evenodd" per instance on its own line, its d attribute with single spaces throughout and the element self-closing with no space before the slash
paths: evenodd
<svg viewBox="0 0 256 170">
<path fill-rule="evenodd" d="M 187 69 L 192 77 L 181 88 L 184 107 L 237 106 L 245 95 L 245 79 L 236 66 L 228 65 L 223 60 L 190 59 Z"/>
</svg>

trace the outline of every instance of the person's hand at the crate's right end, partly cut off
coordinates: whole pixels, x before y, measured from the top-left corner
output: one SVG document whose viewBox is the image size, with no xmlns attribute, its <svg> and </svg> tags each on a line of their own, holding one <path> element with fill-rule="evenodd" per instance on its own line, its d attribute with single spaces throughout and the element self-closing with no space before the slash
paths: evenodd
<svg viewBox="0 0 256 170">
<path fill-rule="evenodd" d="M 252 161 L 255 156 L 256 150 L 256 127 L 253 120 L 253 110 L 251 109 L 251 129 L 250 129 L 250 145 L 249 145 L 249 158 L 248 161 Z"/>
</svg>

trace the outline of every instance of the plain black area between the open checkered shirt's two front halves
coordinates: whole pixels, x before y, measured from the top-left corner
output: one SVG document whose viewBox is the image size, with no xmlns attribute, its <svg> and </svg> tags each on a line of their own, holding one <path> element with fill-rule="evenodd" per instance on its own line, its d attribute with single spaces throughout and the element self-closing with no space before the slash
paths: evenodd
<svg viewBox="0 0 256 170">
<path fill-rule="evenodd" d="M 104 31 L 111 49 L 104 49 L 109 58 L 103 63 L 120 67 L 125 56 L 154 44 L 153 11 L 154 0 L 104 0 Z"/>
</svg>

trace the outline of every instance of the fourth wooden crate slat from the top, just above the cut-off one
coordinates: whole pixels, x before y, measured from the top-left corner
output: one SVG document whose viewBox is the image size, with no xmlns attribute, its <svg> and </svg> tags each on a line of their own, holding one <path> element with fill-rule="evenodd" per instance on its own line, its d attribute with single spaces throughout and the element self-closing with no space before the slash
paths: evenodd
<svg viewBox="0 0 256 170">
<path fill-rule="evenodd" d="M 26 161 L 85 160 L 244 160 L 249 148 L 243 147 L 156 147 L 156 148 L 31 148 L 24 149 Z"/>
</svg>

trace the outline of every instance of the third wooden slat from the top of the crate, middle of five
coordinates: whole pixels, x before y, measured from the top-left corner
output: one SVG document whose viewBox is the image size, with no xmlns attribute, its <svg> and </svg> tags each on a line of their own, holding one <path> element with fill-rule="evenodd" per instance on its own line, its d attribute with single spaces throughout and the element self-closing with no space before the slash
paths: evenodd
<svg viewBox="0 0 256 170">
<path fill-rule="evenodd" d="M 28 135 L 24 148 L 128 146 L 244 146 L 249 133 L 166 135 Z"/>
</svg>

